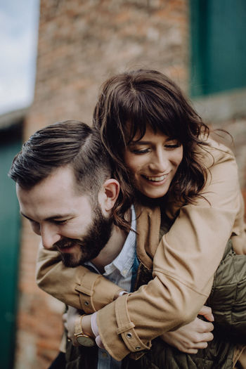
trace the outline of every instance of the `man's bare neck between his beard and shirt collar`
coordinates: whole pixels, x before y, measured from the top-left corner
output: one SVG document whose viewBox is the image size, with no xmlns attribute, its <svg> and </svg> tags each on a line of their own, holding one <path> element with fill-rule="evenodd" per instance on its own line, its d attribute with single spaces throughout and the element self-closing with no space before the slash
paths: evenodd
<svg viewBox="0 0 246 369">
<path fill-rule="evenodd" d="M 103 250 L 100 252 L 98 257 L 91 260 L 91 263 L 98 268 L 100 273 L 103 273 L 105 271 L 104 267 L 112 263 L 112 261 L 119 255 L 119 252 L 122 251 L 127 235 L 128 234 L 119 227 L 115 225 L 112 227 L 112 233 L 107 245 L 103 247 Z"/>
</svg>

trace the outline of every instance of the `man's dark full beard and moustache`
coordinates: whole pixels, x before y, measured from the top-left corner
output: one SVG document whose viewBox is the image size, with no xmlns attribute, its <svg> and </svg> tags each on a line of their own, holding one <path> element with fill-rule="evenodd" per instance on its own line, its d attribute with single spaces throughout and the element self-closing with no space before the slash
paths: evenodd
<svg viewBox="0 0 246 369">
<path fill-rule="evenodd" d="M 93 210 L 93 219 L 82 240 L 63 238 L 54 245 L 63 259 L 63 264 L 74 268 L 85 261 L 95 259 L 108 243 L 112 232 L 112 218 L 106 218 L 99 205 Z M 77 252 L 63 253 L 63 247 L 76 246 Z"/>
</svg>

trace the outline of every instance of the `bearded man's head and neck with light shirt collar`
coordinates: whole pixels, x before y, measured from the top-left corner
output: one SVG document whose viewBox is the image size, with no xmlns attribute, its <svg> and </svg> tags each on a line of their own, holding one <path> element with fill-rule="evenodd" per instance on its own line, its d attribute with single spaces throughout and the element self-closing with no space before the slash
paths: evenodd
<svg viewBox="0 0 246 369">
<path fill-rule="evenodd" d="M 39 152 L 31 151 L 30 146 L 37 146 L 37 142 Z M 49 150 L 49 145 L 53 145 L 53 150 Z M 22 171 L 17 170 L 20 162 Z M 113 224 L 111 213 L 119 195 L 119 183 L 111 178 L 108 157 L 92 129 L 71 121 L 37 132 L 15 157 L 11 176 L 17 182 L 20 213 L 30 221 L 34 233 L 41 236 L 45 249 L 58 250 L 65 266 L 91 261 L 98 271 L 103 271 L 118 257 L 128 239 L 124 252 L 129 265 L 114 267 L 111 278 L 120 285 L 119 271 L 124 273 L 128 268 L 122 287 L 131 286 L 136 235 L 127 235 Z M 120 259 L 117 258 L 118 263 L 122 263 Z"/>
</svg>

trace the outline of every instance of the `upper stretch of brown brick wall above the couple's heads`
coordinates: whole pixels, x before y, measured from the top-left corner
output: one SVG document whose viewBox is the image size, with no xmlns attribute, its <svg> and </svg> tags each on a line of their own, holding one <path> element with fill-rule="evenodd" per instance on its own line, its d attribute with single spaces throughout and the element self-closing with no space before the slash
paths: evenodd
<svg viewBox="0 0 246 369">
<path fill-rule="evenodd" d="M 186 0 L 41 0 L 37 85 L 26 136 L 60 119 L 91 122 L 112 73 L 153 67 L 188 78 Z"/>
</svg>

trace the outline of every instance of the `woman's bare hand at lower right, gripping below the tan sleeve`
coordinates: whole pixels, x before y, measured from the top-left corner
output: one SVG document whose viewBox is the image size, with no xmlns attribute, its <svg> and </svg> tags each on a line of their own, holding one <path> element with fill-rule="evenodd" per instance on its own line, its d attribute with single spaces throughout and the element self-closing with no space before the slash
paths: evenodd
<svg viewBox="0 0 246 369">
<path fill-rule="evenodd" d="M 199 315 L 205 316 L 209 321 L 214 321 L 212 310 L 208 306 L 202 306 Z M 174 332 L 165 332 L 161 337 L 165 342 L 179 349 L 179 351 L 187 354 L 196 354 L 198 349 L 205 349 L 207 342 L 212 341 L 214 338 L 212 334 L 213 329 L 214 325 L 212 323 L 195 318 L 195 321 L 183 325 L 183 327 L 174 330 Z"/>
</svg>

